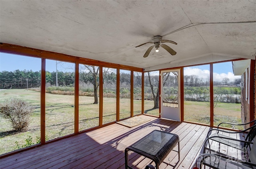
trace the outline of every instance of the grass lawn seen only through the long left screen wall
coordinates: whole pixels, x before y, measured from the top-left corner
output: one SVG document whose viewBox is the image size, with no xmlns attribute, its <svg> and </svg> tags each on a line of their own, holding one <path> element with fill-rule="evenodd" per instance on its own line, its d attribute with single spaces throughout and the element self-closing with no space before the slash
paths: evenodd
<svg viewBox="0 0 256 169">
<path fill-rule="evenodd" d="M 0 154 L 13 151 L 15 141 L 20 147 L 26 139 L 40 137 L 40 92 L 25 89 L 0 90 L 0 102 L 8 98 L 23 98 L 34 105 L 34 114 L 28 131 L 17 133 L 8 120 L 0 117 Z M 99 104 L 92 104 L 94 97 L 79 96 L 79 131 L 99 125 Z M 120 98 L 120 119 L 130 117 L 130 99 Z M 152 104 L 151 104 L 152 105 Z M 153 106 L 152 106 L 153 107 Z M 141 100 L 134 100 L 136 114 L 141 114 Z M 137 111 L 136 111 L 137 110 Z M 116 121 L 116 98 L 103 99 L 103 124 Z M 74 133 L 74 96 L 46 93 L 46 137 L 49 140 Z"/>
</svg>

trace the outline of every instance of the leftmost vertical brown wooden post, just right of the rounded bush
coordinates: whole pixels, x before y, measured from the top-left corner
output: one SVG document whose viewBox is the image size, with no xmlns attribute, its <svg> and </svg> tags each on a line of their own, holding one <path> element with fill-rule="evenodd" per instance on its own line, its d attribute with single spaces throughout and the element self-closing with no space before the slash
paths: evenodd
<svg viewBox="0 0 256 169">
<path fill-rule="evenodd" d="M 45 67 L 46 67 L 46 59 L 41 59 L 41 92 L 40 92 L 40 102 L 41 102 L 41 144 L 45 143 Z"/>
</svg>

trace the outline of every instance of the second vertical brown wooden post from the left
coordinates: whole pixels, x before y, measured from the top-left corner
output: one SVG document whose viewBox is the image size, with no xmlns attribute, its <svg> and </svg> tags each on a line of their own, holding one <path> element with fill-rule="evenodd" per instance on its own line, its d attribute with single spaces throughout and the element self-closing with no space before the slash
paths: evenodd
<svg viewBox="0 0 256 169">
<path fill-rule="evenodd" d="M 75 65 L 75 134 L 79 132 L 79 63 Z"/>
</svg>

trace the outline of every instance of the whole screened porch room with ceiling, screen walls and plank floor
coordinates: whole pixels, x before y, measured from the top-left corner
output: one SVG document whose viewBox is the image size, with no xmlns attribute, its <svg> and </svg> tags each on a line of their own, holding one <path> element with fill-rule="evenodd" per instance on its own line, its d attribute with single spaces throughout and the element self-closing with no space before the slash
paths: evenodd
<svg viewBox="0 0 256 169">
<path fill-rule="evenodd" d="M 180 137 L 181 159 L 172 151 L 160 168 L 187 169 L 211 128 L 256 119 L 255 1 L 1 0 L 0 10 L 0 104 L 32 107 L 24 130 L 1 114 L 1 168 L 124 168 L 124 149 L 162 130 Z M 150 163 L 130 155 L 133 168 Z"/>
</svg>

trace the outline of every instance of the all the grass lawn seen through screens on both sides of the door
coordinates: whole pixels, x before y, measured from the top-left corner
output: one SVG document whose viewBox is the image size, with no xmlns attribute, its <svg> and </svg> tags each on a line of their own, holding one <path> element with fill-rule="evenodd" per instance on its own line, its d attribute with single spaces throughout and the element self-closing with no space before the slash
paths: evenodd
<svg viewBox="0 0 256 169">
<path fill-rule="evenodd" d="M 26 139 L 32 137 L 36 143 L 36 137 L 40 137 L 40 92 L 24 89 L 0 90 L 0 102 L 7 98 L 23 98 L 35 106 L 34 114 L 28 131 L 17 133 L 12 130 L 8 120 L 0 117 L 0 154 L 13 151 L 16 148 L 15 141 L 20 147 L 26 144 Z M 94 97 L 79 96 L 79 131 L 98 126 L 99 104 L 92 104 Z M 240 104 L 219 103 L 214 109 L 216 120 L 224 117 L 239 119 Z M 159 109 L 152 109 L 154 102 L 144 100 L 145 113 L 154 116 L 159 115 Z M 204 102 L 185 102 L 185 120 L 206 123 L 209 120 L 210 108 Z M 236 113 L 234 114 L 234 110 Z M 141 114 L 141 100 L 134 100 L 134 115 Z M 188 113 L 186 113 L 188 112 Z M 120 98 L 120 119 L 130 116 L 130 99 Z M 222 117 L 224 116 L 224 117 Z M 196 121 L 198 120 L 198 121 Z M 103 124 L 116 121 L 116 98 L 103 98 Z M 217 121 L 217 122 L 218 122 Z M 215 121 L 214 121 L 215 122 Z M 49 140 L 74 133 L 74 96 L 46 93 L 46 136 Z"/>
</svg>

